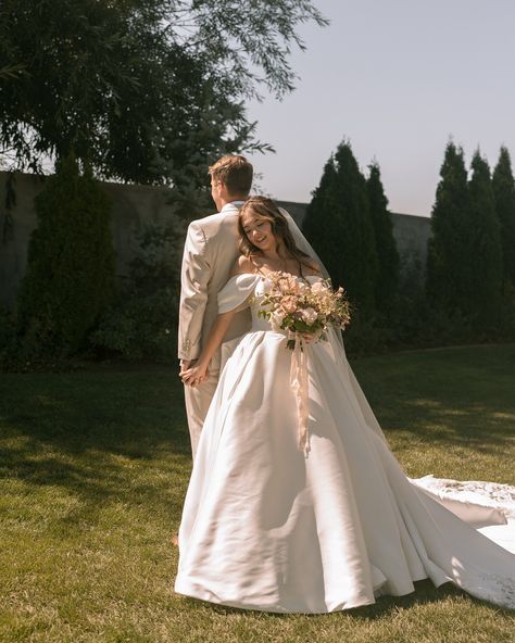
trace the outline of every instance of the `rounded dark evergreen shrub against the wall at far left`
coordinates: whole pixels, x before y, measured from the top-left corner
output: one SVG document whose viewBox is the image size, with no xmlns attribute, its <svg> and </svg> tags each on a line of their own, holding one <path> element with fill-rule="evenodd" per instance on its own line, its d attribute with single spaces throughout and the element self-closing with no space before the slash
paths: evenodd
<svg viewBox="0 0 515 643">
<path fill-rule="evenodd" d="M 111 203 L 70 155 L 38 194 L 36 212 L 17 300 L 21 356 L 67 356 L 85 346 L 113 297 Z"/>
</svg>

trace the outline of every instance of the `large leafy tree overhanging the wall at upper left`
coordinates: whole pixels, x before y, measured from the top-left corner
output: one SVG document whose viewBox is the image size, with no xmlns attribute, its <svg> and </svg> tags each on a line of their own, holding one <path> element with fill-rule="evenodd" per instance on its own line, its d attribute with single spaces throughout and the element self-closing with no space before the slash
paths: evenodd
<svg viewBox="0 0 515 643">
<path fill-rule="evenodd" d="M 307 0 L 2 0 L 0 152 L 71 149 L 104 178 L 183 189 L 221 153 L 266 149 L 243 100 L 292 89 Z"/>
</svg>

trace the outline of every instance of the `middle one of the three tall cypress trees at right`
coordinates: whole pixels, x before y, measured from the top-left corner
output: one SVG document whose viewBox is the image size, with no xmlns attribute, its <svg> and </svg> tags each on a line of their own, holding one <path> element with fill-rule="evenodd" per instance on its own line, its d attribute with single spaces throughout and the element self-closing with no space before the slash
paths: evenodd
<svg viewBox="0 0 515 643">
<path fill-rule="evenodd" d="M 488 329 L 499 320 L 502 294 L 502 243 L 495 214 L 490 168 L 479 150 L 472 161 L 470 255 L 473 281 L 468 291 L 470 316 L 478 329 Z"/>
</svg>

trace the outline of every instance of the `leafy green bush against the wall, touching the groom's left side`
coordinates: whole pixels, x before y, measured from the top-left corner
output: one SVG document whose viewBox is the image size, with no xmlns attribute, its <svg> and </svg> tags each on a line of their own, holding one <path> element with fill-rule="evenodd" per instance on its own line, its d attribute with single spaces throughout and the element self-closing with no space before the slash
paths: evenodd
<svg viewBox="0 0 515 643">
<path fill-rule="evenodd" d="M 185 225 L 149 225 L 137 237 L 139 251 L 116 303 L 91 337 L 103 353 L 128 360 L 177 358 L 179 270 Z"/>
</svg>

